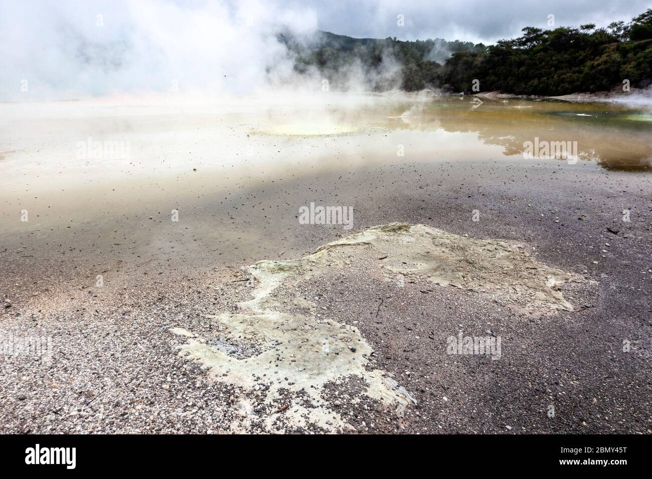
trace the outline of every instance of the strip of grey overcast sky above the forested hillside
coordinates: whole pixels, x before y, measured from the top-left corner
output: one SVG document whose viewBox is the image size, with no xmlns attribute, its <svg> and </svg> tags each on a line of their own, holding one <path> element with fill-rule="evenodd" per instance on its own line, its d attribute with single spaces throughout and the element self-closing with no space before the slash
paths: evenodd
<svg viewBox="0 0 652 479">
<path fill-rule="evenodd" d="M 495 42 L 518 36 L 526 26 L 595 23 L 606 26 L 652 8 L 645 0 L 303 0 L 316 12 L 320 29 L 342 35 L 401 40 L 445 38 Z M 396 25 L 404 15 L 405 26 Z"/>
</svg>

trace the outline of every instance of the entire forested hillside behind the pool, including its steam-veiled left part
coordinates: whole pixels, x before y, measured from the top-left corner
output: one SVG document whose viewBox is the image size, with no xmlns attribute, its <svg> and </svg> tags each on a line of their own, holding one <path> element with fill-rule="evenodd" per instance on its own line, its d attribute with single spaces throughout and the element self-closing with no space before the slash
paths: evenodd
<svg viewBox="0 0 652 479">
<path fill-rule="evenodd" d="M 485 46 L 472 42 L 351 38 L 319 32 L 310 41 L 280 39 L 295 55 L 295 70 L 314 69 L 346 87 L 351 71 L 363 72 L 376 91 L 443 88 L 474 93 L 558 95 L 606 91 L 623 80 L 647 87 L 652 78 L 652 8 L 629 23 L 544 30 Z"/>
</svg>

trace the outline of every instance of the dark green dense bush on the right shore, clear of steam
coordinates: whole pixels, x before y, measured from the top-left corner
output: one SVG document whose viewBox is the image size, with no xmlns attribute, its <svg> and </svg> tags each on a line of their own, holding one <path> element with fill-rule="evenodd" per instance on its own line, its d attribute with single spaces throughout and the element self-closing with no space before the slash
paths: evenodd
<svg viewBox="0 0 652 479">
<path fill-rule="evenodd" d="M 523 36 L 501 40 L 486 53 L 457 53 L 443 67 L 441 80 L 456 91 L 471 91 L 477 78 L 483 91 L 557 95 L 604 91 L 627 79 L 645 86 L 652 76 L 652 9 L 628 25 L 523 29 Z"/>
</svg>

